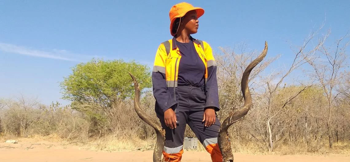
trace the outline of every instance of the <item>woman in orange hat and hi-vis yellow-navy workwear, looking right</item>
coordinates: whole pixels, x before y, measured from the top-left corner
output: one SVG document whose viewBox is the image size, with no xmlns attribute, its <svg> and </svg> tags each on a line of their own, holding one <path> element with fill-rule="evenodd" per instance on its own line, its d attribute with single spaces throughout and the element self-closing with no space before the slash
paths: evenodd
<svg viewBox="0 0 350 162">
<path fill-rule="evenodd" d="M 186 124 L 211 154 L 222 162 L 217 144 L 220 122 L 216 64 L 205 41 L 194 39 L 202 8 L 189 3 L 174 5 L 169 12 L 173 39 L 160 44 L 152 72 L 155 111 L 165 129 L 163 160 L 181 161 Z"/>
</svg>

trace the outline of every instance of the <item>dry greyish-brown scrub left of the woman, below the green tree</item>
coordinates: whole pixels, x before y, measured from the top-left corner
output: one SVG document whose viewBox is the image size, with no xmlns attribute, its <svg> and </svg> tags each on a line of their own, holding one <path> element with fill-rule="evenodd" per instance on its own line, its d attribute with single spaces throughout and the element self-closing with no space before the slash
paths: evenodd
<svg viewBox="0 0 350 162">
<path fill-rule="evenodd" d="M 67 141 L 80 141 L 107 150 L 135 149 L 154 143 L 154 130 L 137 116 L 132 99 L 114 103 L 109 111 L 101 113 L 103 123 L 58 102 L 46 106 L 22 96 L 17 100 L 2 99 L 0 103 L 4 105 L 0 109 L 1 138 L 57 134 L 64 145 L 69 144 Z M 142 96 L 142 109 L 156 118 L 154 103 L 152 93 Z M 122 147 L 123 143 L 128 144 Z"/>
</svg>

